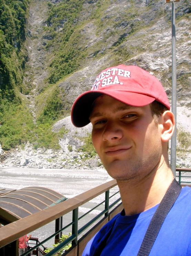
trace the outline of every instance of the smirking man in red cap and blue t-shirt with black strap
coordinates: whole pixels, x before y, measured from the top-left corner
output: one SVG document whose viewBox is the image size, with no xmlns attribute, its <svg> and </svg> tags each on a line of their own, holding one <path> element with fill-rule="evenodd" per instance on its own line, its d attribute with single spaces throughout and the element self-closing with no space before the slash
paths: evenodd
<svg viewBox="0 0 191 256">
<path fill-rule="evenodd" d="M 105 69 L 74 102 L 72 122 L 92 123 L 93 145 L 124 206 L 83 256 L 191 255 L 191 189 L 181 190 L 170 169 L 175 119 L 169 110 L 161 83 L 137 66 Z"/>
</svg>

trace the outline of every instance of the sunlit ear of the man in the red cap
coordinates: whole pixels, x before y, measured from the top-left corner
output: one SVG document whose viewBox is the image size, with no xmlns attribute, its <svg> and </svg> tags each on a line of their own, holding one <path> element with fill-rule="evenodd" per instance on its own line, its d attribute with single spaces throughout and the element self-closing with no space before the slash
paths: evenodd
<svg viewBox="0 0 191 256">
<path fill-rule="evenodd" d="M 161 140 L 163 142 L 168 142 L 175 129 L 175 118 L 173 113 L 171 111 L 165 111 L 162 114 L 160 121 L 160 124 L 162 125 Z"/>
</svg>

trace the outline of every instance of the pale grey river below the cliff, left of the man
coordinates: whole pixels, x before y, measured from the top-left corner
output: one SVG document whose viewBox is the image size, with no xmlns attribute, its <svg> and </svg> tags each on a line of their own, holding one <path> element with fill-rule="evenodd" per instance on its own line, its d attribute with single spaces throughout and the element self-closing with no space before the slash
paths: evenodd
<svg viewBox="0 0 191 256">
<path fill-rule="evenodd" d="M 30 186 L 41 186 L 53 189 L 67 198 L 81 194 L 93 187 L 108 182 L 112 178 L 104 169 L 97 170 L 72 170 L 72 169 L 29 169 L 29 168 L 0 168 L 0 187 L 10 189 L 21 189 Z M 113 188 L 113 193 L 118 188 Z M 79 216 L 96 206 L 104 200 L 98 196 L 90 202 L 79 207 Z M 90 219 L 95 217 L 103 207 L 94 210 L 79 222 L 83 226 Z M 71 213 L 64 215 L 63 227 L 72 221 Z M 32 232 L 32 237 L 38 237 L 40 241 L 50 236 L 55 231 L 55 221 Z M 71 228 L 63 231 L 64 234 L 71 232 Z M 46 242 L 44 246 L 50 247 L 54 244 L 54 238 Z"/>
</svg>

